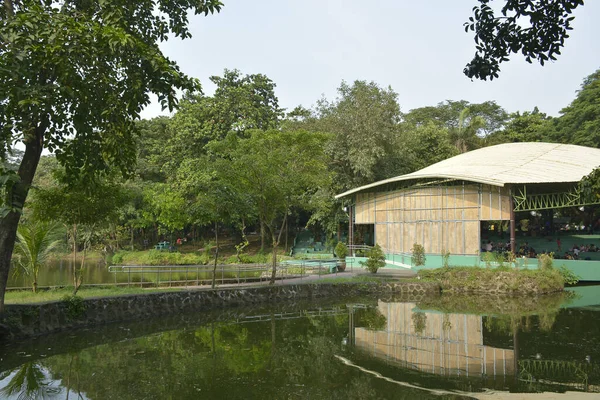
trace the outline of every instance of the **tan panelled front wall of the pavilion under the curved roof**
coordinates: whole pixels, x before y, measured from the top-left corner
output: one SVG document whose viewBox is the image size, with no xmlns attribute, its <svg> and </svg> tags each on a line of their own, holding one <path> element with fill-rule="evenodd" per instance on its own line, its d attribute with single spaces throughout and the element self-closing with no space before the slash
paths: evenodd
<svg viewBox="0 0 600 400">
<path fill-rule="evenodd" d="M 388 253 L 478 254 L 480 221 L 510 219 L 505 188 L 457 185 L 358 193 L 355 222 L 374 224 L 375 241 Z"/>
</svg>

